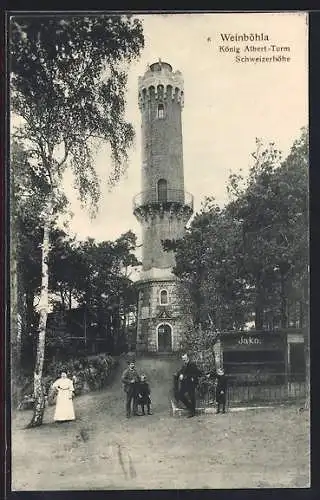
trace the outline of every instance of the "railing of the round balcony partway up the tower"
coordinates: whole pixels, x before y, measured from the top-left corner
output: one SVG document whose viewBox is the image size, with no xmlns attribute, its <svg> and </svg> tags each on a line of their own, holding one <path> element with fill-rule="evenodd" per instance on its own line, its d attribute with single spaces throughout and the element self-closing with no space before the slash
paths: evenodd
<svg viewBox="0 0 320 500">
<path fill-rule="evenodd" d="M 157 191 L 150 189 L 142 191 L 133 198 L 133 210 L 148 205 L 179 204 L 193 210 L 193 195 L 181 189 L 166 189 Z"/>
</svg>

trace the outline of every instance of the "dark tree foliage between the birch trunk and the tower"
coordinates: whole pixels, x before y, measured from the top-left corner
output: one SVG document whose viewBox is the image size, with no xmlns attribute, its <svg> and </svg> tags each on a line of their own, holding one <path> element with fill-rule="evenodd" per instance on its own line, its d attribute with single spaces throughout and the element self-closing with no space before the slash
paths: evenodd
<svg viewBox="0 0 320 500">
<path fill-rule="evenodd" d="M 85 304 L 101 315 L 119 300 L 132 304 L 129 273 L 139 262 L 134 255 L 136 236 L 131 231 L 115 241 L 100 243 L 92 238 L 75 241 L 62 231 L 52 238 L 49 287 L 59 294 L 63 308 Z"/>
</svg>

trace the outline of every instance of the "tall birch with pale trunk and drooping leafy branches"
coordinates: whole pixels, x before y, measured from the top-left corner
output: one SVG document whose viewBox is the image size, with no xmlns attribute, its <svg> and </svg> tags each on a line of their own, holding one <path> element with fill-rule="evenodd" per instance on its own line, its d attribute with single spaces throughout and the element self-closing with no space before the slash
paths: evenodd
<svg viewBox="0 0 320 500">
<path fill-rule="evenodd" d="M 48 185 L 43 200 L 41 293 L 35 410 L 30 426 L 42 424 L 42 370 L 48 314 L 49 233 L 61 208 L 61 181 L 68 165 L 83 203 L 94 213 L 99 182 L 93 150 L 110 145 L 114 184 L 126 164 L 134 131 L 125 121 L 128 64 L 143 46 L 142 26 L 131 16 L 12 18 L 10 26 L 11 107 L 21 125 L 33 175 Z"/>
</svg>

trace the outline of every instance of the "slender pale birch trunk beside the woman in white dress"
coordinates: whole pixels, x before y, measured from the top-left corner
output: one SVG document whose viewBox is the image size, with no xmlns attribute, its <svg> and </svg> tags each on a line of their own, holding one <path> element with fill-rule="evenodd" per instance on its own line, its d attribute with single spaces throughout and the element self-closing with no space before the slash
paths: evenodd
<svg viewBox="0 0 320 500">
<path fill-rule="evenodd" d="M 47 217 L 44 219 L 43 223 L 43 241 L 42 241 L 42 256 L 41 256 L 41 292 L 40 292 L 40 302 L 39 302 L 39 327 L 38 327 L 38 344 L 37 344 L 37 356 L 36 363 L 33 374 L 33 387 L 34 387 L 34 410 L 31 422 L 28 424 L 30 427 L 38 427 L 42 425 L 44 408 L 45 408 L 45 398 L 42 384 L 42 372 L 44 363 L 44 352 L 45 352 L 45 341 L 46 341 L 46 326 L 48 318 L 48 283 L 49 283 L 49 273 L 48 273 L 48 258 L 49 258 L 49 231 L 51 222 L 51 210 L 48 210 Z"/>
</svg>

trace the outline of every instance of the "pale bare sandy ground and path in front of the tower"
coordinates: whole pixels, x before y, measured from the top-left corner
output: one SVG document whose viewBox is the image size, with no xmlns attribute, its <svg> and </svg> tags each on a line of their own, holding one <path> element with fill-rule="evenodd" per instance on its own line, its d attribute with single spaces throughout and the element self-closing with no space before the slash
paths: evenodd
<svg viewBox="0 0 320 500">
<path fill-rule="evenodd" d="M 13 490 L 301 488 L 309 486 L 309 415 L 296 407 L 193 419 L 170 415 L 174 360 L 141 359 L 153 389 L 152 416 L 125 418 L 116 377 L 75 399 L 77 420 L 25 430 L 12 422 Z"/>
</svg>

